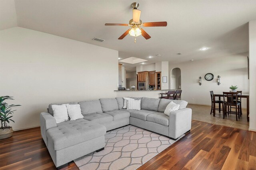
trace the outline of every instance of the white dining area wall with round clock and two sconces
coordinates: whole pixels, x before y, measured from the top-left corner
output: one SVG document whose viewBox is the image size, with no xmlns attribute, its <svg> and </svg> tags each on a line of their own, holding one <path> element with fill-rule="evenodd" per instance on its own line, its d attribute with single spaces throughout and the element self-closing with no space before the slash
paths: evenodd
<svg viewBox="0 0 256 170">
<path fill-rule="evenodd" d="M 190 61 L 180 64 L 170 64 L 169 69 L 180 68 L 182 82 L 182 100 L 192 104 L 210 105 L 210 90 L 215 94 L 228 92 L 231 85 L 237 85 L 243 94 L 249 92 L 249 80 L 247 71 L 248 53 Z M 204 75 L 214 74 L 212 81 L 206 81 Z M 220 76 L 220 85 L 216 83 L 216 77 Z M 202 77 L 202 85 L 198 84 L 198 77 Z M 246 108 L 246 99 L 242 100 L 242 107 Z"/>
</svg>

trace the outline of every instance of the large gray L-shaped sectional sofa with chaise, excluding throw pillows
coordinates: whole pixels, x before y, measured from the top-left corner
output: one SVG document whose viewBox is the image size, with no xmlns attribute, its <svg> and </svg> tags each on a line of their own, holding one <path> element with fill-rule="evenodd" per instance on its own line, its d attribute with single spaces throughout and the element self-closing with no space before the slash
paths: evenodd
<svg viewBox="0 0 256 170">
<path fill-rule="evenodd" d="M 123 109 L 123 98 L 70 102 L 80 104 L 83 119 L 56 123 L 52 105 L 40 114 L 41 134 L 57 169 L 72 160 L 104 149 L 106 131 L 125 125 L 134 125 L 165 136 L 178 139 L 190 131 L 192 110 L 183 100 L 134 98 L 141 101 L 141 110 Z M 180 104 L 170 116 L 163 112 L 173 101 Z"/>
</svg>

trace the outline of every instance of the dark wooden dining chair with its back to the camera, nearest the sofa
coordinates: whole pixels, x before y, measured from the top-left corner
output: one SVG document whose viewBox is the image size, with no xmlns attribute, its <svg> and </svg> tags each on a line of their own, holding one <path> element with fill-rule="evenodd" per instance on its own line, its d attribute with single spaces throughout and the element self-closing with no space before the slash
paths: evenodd
<svg viewBox="0 0 256 170">
<path fill-rule="evenodd" d="M 240 104 L 238 102 L 238 92 L 223 92 L 223 100 L 224 100 L 224 112 L 223 112 L 223 119 L 225 116 L 227 117 L 228 114 L 236 114 L 236 121 L 240 119 Z M 231 109 L 227 109 L 227 107 L 232 107 L 236 109 L 236 111 L 231 111 Z M 238 119 L 237 119 L 238 115 Z"/>
</svg>

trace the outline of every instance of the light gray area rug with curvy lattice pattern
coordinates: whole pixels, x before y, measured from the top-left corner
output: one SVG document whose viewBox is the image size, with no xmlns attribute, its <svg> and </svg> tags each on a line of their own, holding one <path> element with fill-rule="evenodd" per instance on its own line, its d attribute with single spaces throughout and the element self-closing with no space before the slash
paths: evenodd
<svg viewBox="0 0 256 170">
<path fill-rule="evenodd" d="M 135 170 L 174 142 L 158 133 L 128 125 L 106 133 L 104 150 L 74 162 L 80 170 Z"/>
</svg>

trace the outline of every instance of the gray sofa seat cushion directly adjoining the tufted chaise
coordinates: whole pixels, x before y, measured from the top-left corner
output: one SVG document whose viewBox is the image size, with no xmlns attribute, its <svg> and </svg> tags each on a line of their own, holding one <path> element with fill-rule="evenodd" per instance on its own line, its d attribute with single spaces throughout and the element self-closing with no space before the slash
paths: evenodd
<svg viewBox="0 0 256 170">
<path fill-rule="evenodd" d="M 84 119 L 102 124 L 113 121 L 113 116 L 106 113 L 94 113 L 91 115 L 85 115 Z"/>
</svg>

